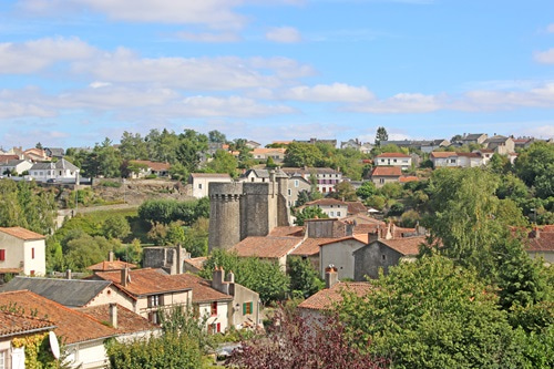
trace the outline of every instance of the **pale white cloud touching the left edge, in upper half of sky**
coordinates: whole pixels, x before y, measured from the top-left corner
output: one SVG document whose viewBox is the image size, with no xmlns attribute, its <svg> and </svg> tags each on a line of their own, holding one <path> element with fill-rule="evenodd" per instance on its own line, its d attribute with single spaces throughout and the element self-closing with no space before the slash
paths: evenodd
<svg viewBox="0 0 554 369">
<path fill-rule="evenodd" d="M 55 62 L 89 59 L 96 52 L 96 49 L 75 38 L 0 43 L 0 73 L 33 73 Z"/>
</svg>

